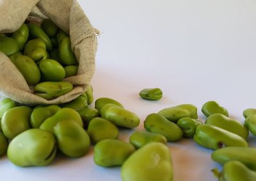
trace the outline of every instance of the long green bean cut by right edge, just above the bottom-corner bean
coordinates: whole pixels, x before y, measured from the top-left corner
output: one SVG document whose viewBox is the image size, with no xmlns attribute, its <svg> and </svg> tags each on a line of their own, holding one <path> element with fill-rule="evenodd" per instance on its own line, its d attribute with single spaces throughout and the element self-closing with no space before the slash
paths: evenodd
<svg viewBox="0 0 256 181">
<path fill-rule="evenodd" d="M 239 161 L 256 170 L 256 148 L 230 146 L 221 148 L 211 154 L 212 160 L 225 164 L 228 161 Z"/>
</svg>

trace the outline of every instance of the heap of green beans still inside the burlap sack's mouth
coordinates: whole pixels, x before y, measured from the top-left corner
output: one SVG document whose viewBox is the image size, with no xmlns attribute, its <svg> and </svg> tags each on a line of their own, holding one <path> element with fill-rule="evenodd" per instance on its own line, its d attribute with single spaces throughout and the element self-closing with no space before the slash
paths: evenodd
<svg viewBox="0 0 256 181">
<path fill-rule="evenodd" d="M 63 81 L 77 75 L 78 62 L 71 50 L 70 37 L 50 19 L 40 25 L 25 22 L 8 35 L 0 35 L 0 51 L 6 54 L 35 94 L 47 100 L 72 91 Z"/>
</svg>

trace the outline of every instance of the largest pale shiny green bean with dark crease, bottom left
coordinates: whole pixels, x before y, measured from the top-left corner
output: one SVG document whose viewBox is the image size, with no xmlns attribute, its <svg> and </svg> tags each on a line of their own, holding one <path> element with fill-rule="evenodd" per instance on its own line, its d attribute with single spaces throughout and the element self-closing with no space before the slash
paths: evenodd
<svg viewBox="0 0 256 181">
<path fill-rule="evenodd" d="M 45 166 L 54 160 L 56 150 L 56 139 L 51 132 L 29 129 L 10 142 L 7 156 L 17 166 Z"/>
</svg>

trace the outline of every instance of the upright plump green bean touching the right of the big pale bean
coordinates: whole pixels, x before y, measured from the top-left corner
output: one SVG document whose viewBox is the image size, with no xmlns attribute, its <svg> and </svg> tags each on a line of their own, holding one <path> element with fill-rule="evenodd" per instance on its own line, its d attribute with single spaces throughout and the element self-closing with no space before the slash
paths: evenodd
<svg viewBox="0 0 256 181">
<path fill-rule="evenodd" d="M 58 148 L 68 157 L 81 157 L 90 148 L 90 138 L 86 131 L 73 120 L 62 120 L 54 127 Z"/>
</svg>

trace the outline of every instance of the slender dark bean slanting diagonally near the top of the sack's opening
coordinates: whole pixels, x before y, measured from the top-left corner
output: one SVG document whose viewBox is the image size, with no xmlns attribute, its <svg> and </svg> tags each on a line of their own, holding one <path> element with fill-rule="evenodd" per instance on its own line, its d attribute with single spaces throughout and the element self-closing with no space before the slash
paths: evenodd
<svg viewBox="0 0 256 181">
<path fill-rule="evenodd" d="M 45 42 L 47 51 L 52 51 L 52 42 L 40 26 L 35 23 L 30 23 L 28 24 L 28 29 L 29 36 L 31 36 L 31 38 L 41 38 Z"/>
</svg>

